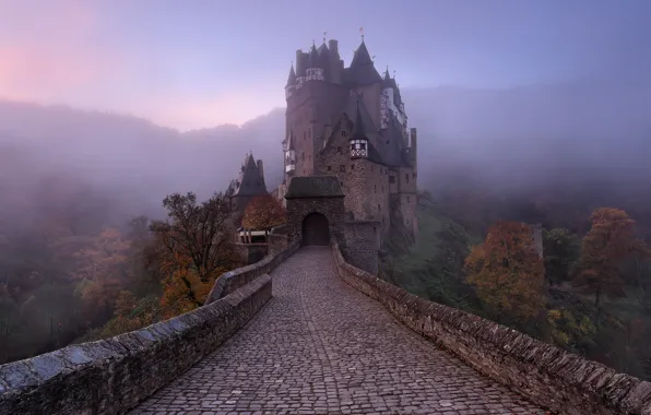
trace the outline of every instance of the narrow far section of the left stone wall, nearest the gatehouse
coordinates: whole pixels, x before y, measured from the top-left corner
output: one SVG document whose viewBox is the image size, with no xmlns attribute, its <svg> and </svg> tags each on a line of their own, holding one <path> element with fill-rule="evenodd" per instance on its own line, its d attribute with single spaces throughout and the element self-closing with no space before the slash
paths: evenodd
<svg viewBox="0 0 651 415">
<path fill-rule="evenodd" d="M 293 242 L 283 251 L 270 253 L 261 261 L 223 273 L 220 275 L 217 282 L 208 295 L 205 304 L 216 301 L 236 289 L 244 287 L 262 274 L 269 274 L 279 263 L 291 257 L 298 247 L 299 245 L 297 242 Z"/>
</svg>

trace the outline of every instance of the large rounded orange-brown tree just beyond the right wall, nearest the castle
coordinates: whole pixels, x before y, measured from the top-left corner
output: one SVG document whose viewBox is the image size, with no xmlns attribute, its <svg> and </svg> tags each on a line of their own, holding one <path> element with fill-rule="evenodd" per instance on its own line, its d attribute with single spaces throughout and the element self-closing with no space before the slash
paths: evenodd
<svg viewBox="0 0 651 415">
<path fill-rule="evenodd" d="M 544 306 L 545 277 L 531 228 L 500 221 L 488 228 L 484 244 L 464 261 L 467 283 L 496 317 L 511 315 L 526 321 Z"/>
</svg>

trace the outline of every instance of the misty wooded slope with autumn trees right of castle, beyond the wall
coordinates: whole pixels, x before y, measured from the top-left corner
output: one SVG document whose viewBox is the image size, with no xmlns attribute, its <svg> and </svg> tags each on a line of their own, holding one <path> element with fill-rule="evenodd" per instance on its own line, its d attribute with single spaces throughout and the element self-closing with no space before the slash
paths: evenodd
<svg viewBox="0 0 651 415">
<path fill-rule="evenodd" d="M 382 277 L 651 379 L 651 195 L 585 176 L 508 192 L 462 176 L 422 195 L 417 246 Z M 540 262 L 522 223 L 544 226 Z"/>
</svg>

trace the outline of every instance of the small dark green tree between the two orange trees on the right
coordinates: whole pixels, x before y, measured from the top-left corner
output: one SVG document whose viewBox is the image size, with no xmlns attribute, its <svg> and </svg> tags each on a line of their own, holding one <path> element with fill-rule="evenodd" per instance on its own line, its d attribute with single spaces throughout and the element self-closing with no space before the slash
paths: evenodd
<svg viewBox="0 0 651 415">
<path fill-rule="evenodd" d="M 581 248 L 577 236 L 565 228 L 544 230 L 543 246 L 545 276 L 549 286 L 568 281 Z"/>
</svg>

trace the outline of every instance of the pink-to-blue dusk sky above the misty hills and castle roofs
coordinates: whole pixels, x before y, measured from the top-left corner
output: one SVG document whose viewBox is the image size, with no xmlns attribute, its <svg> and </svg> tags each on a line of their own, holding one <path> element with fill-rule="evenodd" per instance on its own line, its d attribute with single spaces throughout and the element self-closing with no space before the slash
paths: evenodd
<svg viewBox="0 0 651 415">
<path fill-rule="evenodd" d="M 401 88 L 651 73 L 648 0 L 0 0 L 0 98 L 179 130 L 284 106 L 296 49 L 360 42 Z"/>
</svg>

